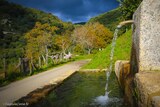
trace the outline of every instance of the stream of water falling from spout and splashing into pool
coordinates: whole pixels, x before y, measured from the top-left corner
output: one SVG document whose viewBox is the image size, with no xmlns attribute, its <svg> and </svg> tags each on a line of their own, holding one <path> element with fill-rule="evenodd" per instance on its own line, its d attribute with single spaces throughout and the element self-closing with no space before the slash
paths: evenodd
<svg viewBox="0 0 160 107">
<path fill-rule="evenodd" d="M 112 72 L 112 67 L 113 67 L 113 56 L 114 56 L 114 49 L 116 46 L 116 40 L 118 37 L 118 28 L 119 27 L 117 27 L 117 29 L 115 29 L 113 40 L 112 40 L 112 45 L 111 45 L 110 66 L 109 66 L 109 69 L 106 71 L 107 80 L 106 80 L 106 86 L 105 86 L 105 95 L 99 96 L 94 100 L 95 103 L 97 103 L 98 105 L 102 105 L 102 106 L 105 106 L 108 103 L 120 101 L 120 99 L 118 99 L 118 98 L 109 98 L 108 97 L 108 94 L 111 92 L 111 91 L 108 91 L 108 81 L 109 81 L 109 77 L 110 77 L 110 74 Z"/>
</svg>

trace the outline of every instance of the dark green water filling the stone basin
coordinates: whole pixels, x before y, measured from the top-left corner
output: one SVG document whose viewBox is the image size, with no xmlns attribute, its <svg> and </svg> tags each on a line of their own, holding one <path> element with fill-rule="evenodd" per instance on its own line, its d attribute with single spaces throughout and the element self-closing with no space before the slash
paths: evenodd
<svg viewBox="0 0 160 107">
<path fill-rule="evenodd" d="M 111 90 L 109 97 L 116 101 L 100 104 L 95 101 L 98 96 L 105 94 L 105 72 L 77 72 L 55 90 L 39 101 L 34 107 L 123 107 L 122 93 L 115 74 L 109 79 Z M 118 99 L 118 100 L 117 100 Z"/>
</svg>

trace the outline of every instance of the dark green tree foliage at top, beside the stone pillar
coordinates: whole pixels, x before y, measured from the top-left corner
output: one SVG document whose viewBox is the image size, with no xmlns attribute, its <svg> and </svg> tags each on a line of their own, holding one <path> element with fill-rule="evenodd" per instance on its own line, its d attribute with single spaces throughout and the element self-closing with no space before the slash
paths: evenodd
<svg viewBox="0 0 160 107">
<path fill-rule="evenodd" d="M 132 15 L 142 0 L 118 0 L 125 20 L 132 19 Z"/>
</svg>

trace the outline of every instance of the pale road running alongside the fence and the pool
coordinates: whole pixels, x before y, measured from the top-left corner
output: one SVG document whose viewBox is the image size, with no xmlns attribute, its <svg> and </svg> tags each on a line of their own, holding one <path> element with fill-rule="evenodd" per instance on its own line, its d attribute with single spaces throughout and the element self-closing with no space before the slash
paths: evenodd
<svg viewBox="0 0 160 107">
<path fill-rule="evenodd" d="M 46 72 L 33 75 L 0 88 L 0 107 L 26 96 L 31 91 L 47 85 L 52 79 L 61 77 L 67 71 L 76 71 L 88 60 L 72 62 Z"/>
</svg>

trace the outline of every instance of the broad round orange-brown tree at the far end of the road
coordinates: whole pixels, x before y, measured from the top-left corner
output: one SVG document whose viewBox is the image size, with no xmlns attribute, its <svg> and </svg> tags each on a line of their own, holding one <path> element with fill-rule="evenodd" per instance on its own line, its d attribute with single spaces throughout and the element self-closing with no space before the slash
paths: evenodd
<svg viewBox="0 0 160 107">
<path fill-rule="evenodd" d="M 85 26 L 77 27 L 72 39 L 76 44 L 80 44 L 83 49 L 88 50 L 88 54 L 92 49 L 104 48 L 111 42 L 112 32 L 103 25 L 97 23 L 89 23 Z"/>
</svg>

